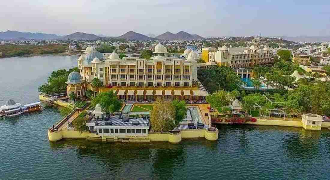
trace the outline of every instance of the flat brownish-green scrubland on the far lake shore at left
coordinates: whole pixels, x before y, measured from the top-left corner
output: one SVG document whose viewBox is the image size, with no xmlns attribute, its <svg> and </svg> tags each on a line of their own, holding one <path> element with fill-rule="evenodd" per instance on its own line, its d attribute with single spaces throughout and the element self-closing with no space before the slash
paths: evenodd
<svg viewBox="0 0 330 180">
<path fill-rule="evenodd" d="M 1 45 L 3 57 L 24 56 L 30 54 L 58 54 L 64 53 L 67 45 Z"/>
</svg>

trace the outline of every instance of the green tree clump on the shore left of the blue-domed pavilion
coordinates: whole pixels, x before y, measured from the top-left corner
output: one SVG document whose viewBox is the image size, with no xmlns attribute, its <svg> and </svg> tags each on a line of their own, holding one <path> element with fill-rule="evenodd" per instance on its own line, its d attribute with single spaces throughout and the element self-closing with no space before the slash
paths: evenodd
<svg viewBox="0 0 330 180">
<path fill-rule="evenodd" d="M 78 67 L 74 67 L 72 69 L 60 69 L 57 71 L 53 71 L 51 75 L 48 77 L 47 83 L 41 85 L 39 87 L 39 92 L 45 94 L 56 94 L 63 93 L 66 91 L 66 82 L 68 81 L 68 76 L 71 72 L 76 71 L 80 72 Z"/>
</svg>

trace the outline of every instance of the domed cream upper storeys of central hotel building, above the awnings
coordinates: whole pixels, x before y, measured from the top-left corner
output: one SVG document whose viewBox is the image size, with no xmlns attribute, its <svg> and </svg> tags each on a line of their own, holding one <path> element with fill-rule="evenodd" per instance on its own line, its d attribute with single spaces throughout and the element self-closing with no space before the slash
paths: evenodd
<svg viewBox="0 0 330 180">
<path fill-rule="evenodd" d="M 190 52 L 186 58 L 167 57 L 167 49 L 158 44 L 151 59 L 123 58 L 113 53 L 104 58 L 95 50 L 86 49 L 78 59 L 82 79 L 91 82 L 99 78 L 105 86 L 139 87 L 191 87 L 197 80 L 197 54 Z"/>
</svg>

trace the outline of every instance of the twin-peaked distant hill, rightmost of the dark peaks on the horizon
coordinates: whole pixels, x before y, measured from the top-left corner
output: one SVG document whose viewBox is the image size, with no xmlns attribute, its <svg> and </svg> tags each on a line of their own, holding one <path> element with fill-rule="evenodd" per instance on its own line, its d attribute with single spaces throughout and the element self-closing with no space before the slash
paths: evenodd
<svg viewBox="0 0 330 180">
<path fill-rule="evenodd" d="M 189 34 L 184 31 L 180 31 L 176 34 L 173 34 L 171 32 L 165 32 L 164 34 L 161 34 L 159 36 L 156 36 L 157 39 L 160 40 L 202 40 L 203 37 L 197 35 L 197 34 Z"/>
</svg>

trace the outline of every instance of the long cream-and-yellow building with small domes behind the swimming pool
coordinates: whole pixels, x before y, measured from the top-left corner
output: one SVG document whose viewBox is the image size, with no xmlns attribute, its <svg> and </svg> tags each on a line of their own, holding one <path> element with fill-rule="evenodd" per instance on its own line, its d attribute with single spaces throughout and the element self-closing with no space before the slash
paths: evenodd
<svg viewBox="0 0 330 180">
<path fill-rule="evenodd" d="M 208 52 L 209 61 L 214 61 L 220 66 L 228 66 L 231 68 L 244 68 L 259 64 L 268 64 L 272 62 L 273 56 L 273 53 L 268 47 L 259 49 L 254 45 L 250 48 L 227 48 L 226 46 L 222 46 L 221 48 L 217 48 L 214 52 Z"/>
</svg>

